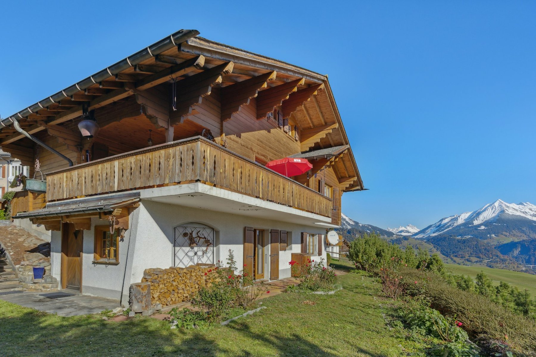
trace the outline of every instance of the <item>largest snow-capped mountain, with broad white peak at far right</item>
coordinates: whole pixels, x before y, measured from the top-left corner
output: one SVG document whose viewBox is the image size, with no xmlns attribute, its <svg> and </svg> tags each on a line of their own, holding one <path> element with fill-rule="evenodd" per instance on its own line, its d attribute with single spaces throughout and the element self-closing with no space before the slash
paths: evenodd
<svg viewBox="0 0 536 357">
<path fill-rule="evenodd" d="M 518 239 L 536 238 L 536 206 L 528 202 L 507 203 L 497 200 L 473 212 L 440 219 L 413 235 L 426 240 L 435 236 L 489 239 L 515 235 Z"/>
</svg>

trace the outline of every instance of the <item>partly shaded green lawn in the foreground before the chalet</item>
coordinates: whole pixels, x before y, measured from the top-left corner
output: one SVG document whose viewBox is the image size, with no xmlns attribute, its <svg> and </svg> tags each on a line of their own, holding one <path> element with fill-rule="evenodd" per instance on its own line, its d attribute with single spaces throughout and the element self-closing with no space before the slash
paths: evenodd
<svg viewBox="0 0 536 357">
<path fill-rule="evenodd" d="M 58 317 L 0 300 L 0 355 L 394 357 L 404 354 L 399 344 L 411 351 L 383 320 L 379 305 L 385 301 L 376 297 L 372 278 L 347 274 L 340 283 L 344 289 L 334 295 L 264 299 L 267 309 L 204 331 L 170 330 L 147 317 Z"/>
</svg>

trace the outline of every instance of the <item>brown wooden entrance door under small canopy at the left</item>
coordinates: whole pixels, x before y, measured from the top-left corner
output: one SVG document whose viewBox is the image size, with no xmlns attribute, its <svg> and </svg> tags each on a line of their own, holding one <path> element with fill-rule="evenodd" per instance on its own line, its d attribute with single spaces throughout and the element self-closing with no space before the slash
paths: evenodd
<svg viewBox="0 0 536 357">
<path fill-rule="evenodd" d="M 72 223 L 62 225 L 62 288 L 82 286 L 82 232 Z"/>
</svg>

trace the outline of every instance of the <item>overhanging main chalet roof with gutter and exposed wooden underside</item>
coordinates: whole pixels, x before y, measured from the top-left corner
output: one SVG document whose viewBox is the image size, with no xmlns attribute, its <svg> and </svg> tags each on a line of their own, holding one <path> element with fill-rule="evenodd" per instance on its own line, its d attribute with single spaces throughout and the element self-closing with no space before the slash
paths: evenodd
<svg viewBox="0 0 536 357">
<path fill-rule="evenodd" d="M 267 71 L 277 72 L 277 76 L 274 73 L 276 78 L 271 78 L 272 87 L 260 88 L 259 93 L 275 86 L 294 86 L 293 90 L 288 90 L 292 94 L 287 96 L 289 100 L 282 107 L 285 109 L 286 105 L 287 113 L 292 113 L 300 129 L 306 133 L 308 139 L 302 143 L 302 151 L 315 145 L 314 149 L 349 146 L 327 75 L 198 35 L 199 31 L 195 29 L 177 31 L 6 119 L 0 119 L 0 146 L 12 157 L 33 162 L 33 143 L 23 142 L 28 140 L 13 127 L 15 120 L 32 135 L 44 130 L 59 130 L 70 125 L 66 123 L 78 120 L 83 110 L 109 108 L 108 105 L 168 82 L 170 78 L 183 75 L 180 83 L 201 72 L 218 72 L 224 77 L 220 85 L 225 88 L 266 76 L 270 74 Z M 213 74 L 210 73 L 207 76 Z M 363 189 L 351 148 L 348 147 L 336 166 L 348 178 L 355 178 L 348 189 Z"/>
</svg>

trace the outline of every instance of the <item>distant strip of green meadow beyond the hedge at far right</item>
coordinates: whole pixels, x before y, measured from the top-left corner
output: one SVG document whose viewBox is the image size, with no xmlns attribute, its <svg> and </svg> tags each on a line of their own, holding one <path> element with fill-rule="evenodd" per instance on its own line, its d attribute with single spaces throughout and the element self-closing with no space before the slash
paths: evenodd
<svg viewBox="0 0 536 357">
<path fill-rule="evenodd" d="M 536 296 L 536 275 L 533 274 L 505 269 L 480 267 L 478 265 L 466 267 L 465 265 L 445 264 L 445 266 L 455 274 L 464 274 L 472 277 L 476 277 L 477 274 L 483 270 L 497 285 L 502 280 L 503 282 L 517 286 L 521 290 L 528 289 L 532 295 Z"/>
</svg>

